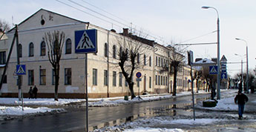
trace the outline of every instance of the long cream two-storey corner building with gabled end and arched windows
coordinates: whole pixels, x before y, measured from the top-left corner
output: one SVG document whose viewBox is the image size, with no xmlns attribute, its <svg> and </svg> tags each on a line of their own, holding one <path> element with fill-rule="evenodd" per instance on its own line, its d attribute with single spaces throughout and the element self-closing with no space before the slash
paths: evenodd
<svg viewBox="0 0 256 132">
<path fill-rule="evenodd" d="M 49 10 L 41 9 L 24 22 L 19 24 L 19 45 L 14 45 L 10 62 L 7 67 L 7 83 L 1 88 L 1 96 L 18 96 L 16 77 L 17 52 L 19 50 L 20 65 L 26 65 L 27 74 L 22 76 L 24 96 L 30 87 L 39 88 L 39 97 L 53 97 L 54 72 L 48 60 L 48 49 L 45 33 L 54 30 L 65 33 L 65 43 L 62 47 L 60 61 L 59 98 L 85 98 L 85 55 L 75 53 L 75 31 L 97 30 L 97 53 L 88 53 L 88 95 L 89 98 L 129 95 L 129 89 L 122 71 L 119 68 L 119 50 L 122 50 L 123 40 L 129 38 L 128 29 L 123 33 L 114 30 L 105 30 L 102 27 L 81 22 L 76 19 L 62 16 Z M 7 33 L 8 39 L 1 40 L 1 61 L 10 51 L 15 30 Z M 140 37 L 139 37 L 140 38 Z M 142 38 L 140 38 L 142 39 Z M 137 40 L 131 40 L 136 44 Z M 168 59 L 171 48 L 157 44 L 154 41 L 143 39 L 143 51 L 137 57 L 142 67 L 135 73 L 142 73 L 142 81 L 137 82 L 134 74 L 134 92 L 141 93 L 171 93 L 173 77 L 169 72 Z M 5 53 L 5 54 L 4 54 Z M 3 70 L 1 68 L 1 71 Z M 188 90 L 186 85 L 189 74 L 181 70 L 178 79 L 179 90 Z"/>
</svg>

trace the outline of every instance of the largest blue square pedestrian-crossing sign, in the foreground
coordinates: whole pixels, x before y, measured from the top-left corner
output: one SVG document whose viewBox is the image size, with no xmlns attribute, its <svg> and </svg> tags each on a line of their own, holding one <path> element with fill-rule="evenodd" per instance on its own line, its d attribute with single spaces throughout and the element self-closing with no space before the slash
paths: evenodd
<svg viewBox="0 0 256 132">
<path fill-rule="evenodd" d="M 97 53 L 97 30 L 76 30 L 75 47 L 75 53 Z"/>
</svg>

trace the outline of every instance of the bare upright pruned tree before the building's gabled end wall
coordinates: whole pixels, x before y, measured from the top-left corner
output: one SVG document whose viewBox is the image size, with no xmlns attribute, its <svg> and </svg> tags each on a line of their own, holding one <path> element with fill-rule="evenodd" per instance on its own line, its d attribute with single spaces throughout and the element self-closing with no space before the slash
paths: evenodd
<svg viewBox="0 0 256 132">
<path fill-rule="evenodd" d="M 59 88 L 59 62 L 62 58 L 62 47 L 65 41 L 65 33 L 60 33 L 59 30 L 53 33 L 45 33 L 45 42 L 48 48 L 48 59 L 53 66 L 54 80 L 55 80 L 55 93 L 54 100 L 58 101 L 58 88 Z"/>
</svg>

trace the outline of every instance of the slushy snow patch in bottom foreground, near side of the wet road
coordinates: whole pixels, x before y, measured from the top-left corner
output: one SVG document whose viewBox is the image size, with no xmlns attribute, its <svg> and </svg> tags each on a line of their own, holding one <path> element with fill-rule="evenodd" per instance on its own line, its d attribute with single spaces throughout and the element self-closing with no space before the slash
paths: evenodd
<svg viewBox="0 0 256 132">
<path fill-rule="evenodd" d="M 137 119 L 134 122 L 128 122 L 122 125 L 102 128 L 100 130 L 94 130 L 95 132 L 101 131 L 124 131 L 124 132 L 131 132 L 131 131 L 150 131 L 150 132 L 157 132 L 157 131 L 166 131 L 166 132 L 185 132 L 186 130 L 175 128 L 175 126 L 179 125 L 211 125 L 214 122 L 222 122 L 222 119 L 173 119 L 171 117 L 166 116 L 159 116 L 159 117 L 152 117 L 150 119 Z M 161 126 L 159 128 L 159 126 Z M 171 128 L 174 127 L 174 128 Z"/>
</svg>

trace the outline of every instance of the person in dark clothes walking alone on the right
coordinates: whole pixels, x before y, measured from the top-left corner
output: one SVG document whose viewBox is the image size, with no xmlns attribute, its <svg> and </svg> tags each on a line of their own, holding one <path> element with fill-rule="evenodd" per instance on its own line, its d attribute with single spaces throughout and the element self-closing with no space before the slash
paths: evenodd
<svg viewBox="0 0 256 132">
<path fill-rule="evenodd" d="M 245 94 L 243 94 L 241 90 L 238 91 L 237 96 L 235 96 L 234 98 L 234 103 L 238 104 L 239 119 L 242 119 L 243 117 L 244 105 L 246 104 L 246 102 L 248 102 L 248 100 L 248 97 Z"/>
</svg>

